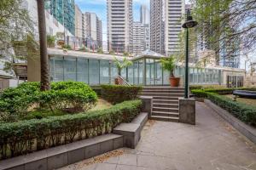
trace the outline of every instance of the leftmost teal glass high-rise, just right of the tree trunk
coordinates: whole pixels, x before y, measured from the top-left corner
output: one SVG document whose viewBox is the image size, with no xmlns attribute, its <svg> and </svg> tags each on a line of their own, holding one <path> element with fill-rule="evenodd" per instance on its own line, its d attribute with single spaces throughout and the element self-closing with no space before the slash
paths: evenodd
<svg viewBox="0 0 256 170">
<path fill-rule="evenodd" d="M 49 0 L 45 3 L 56 20 L 75 35 L 75 3 L 74 0 Z"/>
</svg>

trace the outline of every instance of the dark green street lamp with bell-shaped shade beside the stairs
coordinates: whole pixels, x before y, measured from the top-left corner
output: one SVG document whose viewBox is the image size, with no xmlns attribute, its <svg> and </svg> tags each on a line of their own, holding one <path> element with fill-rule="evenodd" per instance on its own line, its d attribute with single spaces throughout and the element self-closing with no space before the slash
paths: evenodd
<svg viewBox="0 0 256 170">
<path fill-rule="evenodd" d="M 189 99 L 189 28 L 197 26 L 197 22 L 190 15 L 190 10 L 187 10 L 187 20 L 183 23 L 183 28 L 186 28 L 186 65 L 185 65 L 185 99 Z"/>
</svg>

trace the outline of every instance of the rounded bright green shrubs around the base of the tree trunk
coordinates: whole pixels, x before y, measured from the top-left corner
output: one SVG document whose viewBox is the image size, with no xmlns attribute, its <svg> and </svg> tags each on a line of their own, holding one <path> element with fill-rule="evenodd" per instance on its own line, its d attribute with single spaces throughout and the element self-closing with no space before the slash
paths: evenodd
<svg viewBox="0 0 256 170">
<path fill-rule="evenodd" d="M 39 82 L 25 82 L 17 88 L 4 90 L 0 94 L 1 115 L 23 117 L 37 105 L 52 112 L 87 111 L 96 104 L 96 93 L 84 82 L 52 82 L 51 89 L 45 92 L 39 87 Z"/>
</svg>

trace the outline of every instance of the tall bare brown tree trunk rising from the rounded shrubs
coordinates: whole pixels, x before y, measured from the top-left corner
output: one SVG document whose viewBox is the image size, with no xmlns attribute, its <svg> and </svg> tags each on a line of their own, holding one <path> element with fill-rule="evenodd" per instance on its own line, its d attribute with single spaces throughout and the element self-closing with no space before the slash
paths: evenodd
<svg viewBox="0 0 256 170">
<path fill-rule="evenodd" d="M 40 40 L 41 91 L 49 90 L 49 65 L 46 42 L 44 0 L 38 1 L 38 31 Z"/>
</svg>

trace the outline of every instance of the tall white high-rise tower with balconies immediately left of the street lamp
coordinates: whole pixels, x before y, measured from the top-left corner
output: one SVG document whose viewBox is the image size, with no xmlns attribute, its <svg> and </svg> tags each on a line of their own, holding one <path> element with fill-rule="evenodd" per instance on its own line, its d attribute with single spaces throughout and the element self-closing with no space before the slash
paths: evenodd
<svg viewBox="0 0 256 170">
<path fill-rule="evenodd" d="M 151 0 L 150 7 L 150 48 L 165 55 L 178 53 L 184 0 Z"/>
</svg>

